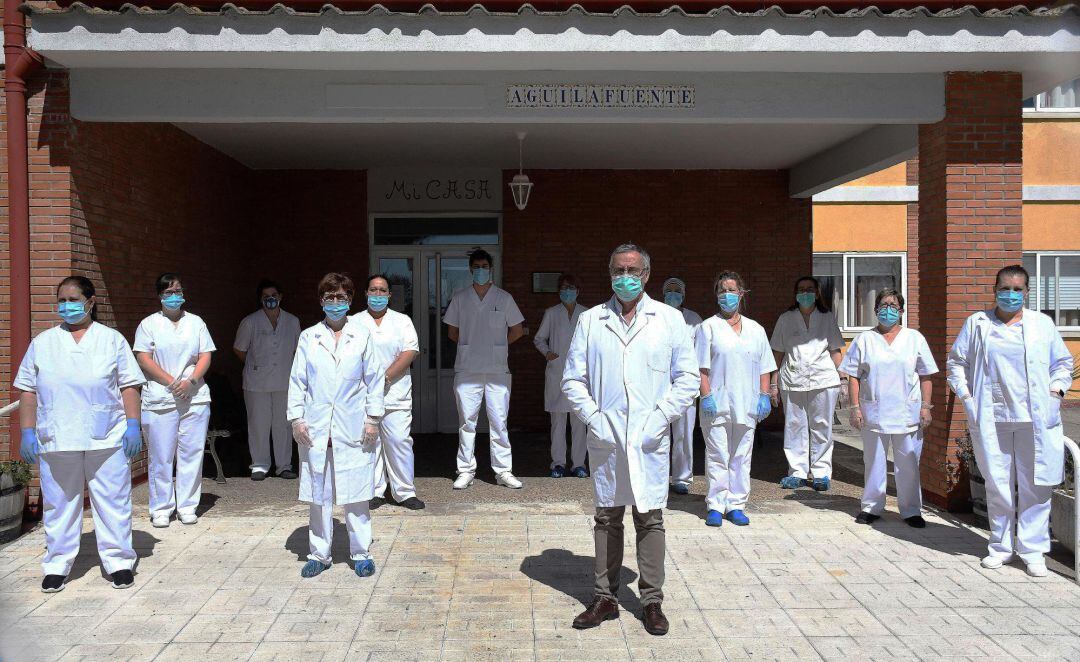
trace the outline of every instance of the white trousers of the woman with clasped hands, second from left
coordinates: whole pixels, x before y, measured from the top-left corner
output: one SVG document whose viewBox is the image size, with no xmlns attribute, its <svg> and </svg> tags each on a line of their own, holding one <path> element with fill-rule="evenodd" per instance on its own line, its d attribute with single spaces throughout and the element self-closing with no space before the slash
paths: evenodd
<svg viewBox="0 0 1080 662">
<path fill-rule="evenodd" d="M 143 430 L 150 447 L 147 483 L 150 487 L 151 517 L 167 517 L 173 511 L 194 514 L 202 497 L 202 459 L 207 425 L 210 405 L 143 411 Z"/>
</svg>

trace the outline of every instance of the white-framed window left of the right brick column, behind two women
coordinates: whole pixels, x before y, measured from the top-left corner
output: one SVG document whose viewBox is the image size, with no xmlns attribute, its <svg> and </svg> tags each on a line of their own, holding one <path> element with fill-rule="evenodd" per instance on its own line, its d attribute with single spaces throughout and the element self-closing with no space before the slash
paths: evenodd
<svg viewBox="0 0 1080 662">
<path fill-rule="evenodd" d="M 881 289 L 896 289 L 907 298 L 905 253 L 814 253 L 813 275 L 843 330 L 877 324 L 874 299 Z"/>
</svg>

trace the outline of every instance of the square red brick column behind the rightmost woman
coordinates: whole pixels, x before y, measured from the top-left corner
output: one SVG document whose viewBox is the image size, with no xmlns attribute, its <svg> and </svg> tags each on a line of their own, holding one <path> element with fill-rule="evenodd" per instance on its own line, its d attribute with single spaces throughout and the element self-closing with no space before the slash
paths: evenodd
<svg viewBox="0 0 1080 662">
<path fill-rule="evenodd" d="M 1021 262 L 1021 96 L 1020 73 L 947 73 L 945 119 L 919 129 L 919 328 L 942 369 L 922 489 L 950 510 L 969 505 L 956 457 L 967 420 L 945 386 L 945 359 L 968 315 L 993 303 L 997 270 Z"/>
</svg>

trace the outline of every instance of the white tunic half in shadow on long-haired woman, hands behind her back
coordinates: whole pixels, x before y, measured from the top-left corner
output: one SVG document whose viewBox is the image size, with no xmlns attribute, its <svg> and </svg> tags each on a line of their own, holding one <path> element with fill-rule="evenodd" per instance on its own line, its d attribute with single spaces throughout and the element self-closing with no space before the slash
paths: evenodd
<svg viewBox="0 0 1080 662">
<path fill-rule="evenodd" d="M 840 386 L 829 352 L 843 349 L 843 336 L 832 312 L 816 308 L 810 313 L 810 328 L 802 313 L 788 310 L 772 329 L 772 349 L 783 352 L 779 386 L 783 391 L 815 391 Z"/>
</svg>

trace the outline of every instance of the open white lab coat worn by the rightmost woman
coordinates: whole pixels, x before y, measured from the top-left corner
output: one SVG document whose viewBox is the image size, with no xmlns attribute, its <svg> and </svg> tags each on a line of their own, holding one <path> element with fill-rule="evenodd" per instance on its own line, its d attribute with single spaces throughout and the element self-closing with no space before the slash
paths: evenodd
<svg viewBox="0 0 1080 662">
<path fill-rule="evenodd" d="M 997 447 L 997 423 L 994 419 L 993 384 L 988 379 L 987 337 L 994 310 L 980 311 L 968 318 L 949 351 L 948 384 L 963 400 L 972 442 L 984 448 Z M 1065 475 L 1065 442 L 1062 429 L 1062 402 L 1050 394 L 1051 389 L 1068 392 L 1072 386 L 1072 355 L 1069 354 L 1049 316 L 1024 310 L 1024 346 L 1028 376 L 1028 397 L 1035 429 L 1035 484 L 1052 486 Z M 971 395 L 967 398 L 967 395 Z M 988 476 L 993 478 L 993 476 Z"/>
</svg>

